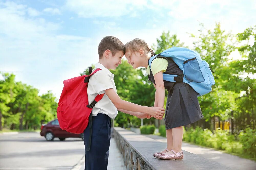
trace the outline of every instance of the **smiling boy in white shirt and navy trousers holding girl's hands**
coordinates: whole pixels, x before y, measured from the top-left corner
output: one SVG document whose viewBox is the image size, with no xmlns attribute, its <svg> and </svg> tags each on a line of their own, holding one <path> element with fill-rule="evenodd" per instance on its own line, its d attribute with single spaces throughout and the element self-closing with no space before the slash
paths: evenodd
<svg viewBox="0 0 256 170">
<path fill-rule="evenodd" d="M 121 100 L 116 93 L 114 75 L 108 69 L 116 69 L 121 64 L 121 59 L 125 53 L 124 44 L 118 38 L 113 36 L 104 37 L 98 46 L 98 53 L 99 62 L 95 65 L 95 69 L 100 68 L 102 70 L 92 75 L 89 79 L 87 88 L 88 101 L 92 103 L 97 94 L 105 94 L 99 102 L 94 104 L 91 121 L 89 121 L 89 125 L 84 130 L 85 169 L 87 170 L 107 169 L 110 121 L 111 118 L 117 115 L 117 110 L 139 118 L 147 118 L 149 115 L 161 119 L 164 114 L 164 108 L 133 104 Z M 140 111 L 144 113 L 140 113 Z"/>
</svg>

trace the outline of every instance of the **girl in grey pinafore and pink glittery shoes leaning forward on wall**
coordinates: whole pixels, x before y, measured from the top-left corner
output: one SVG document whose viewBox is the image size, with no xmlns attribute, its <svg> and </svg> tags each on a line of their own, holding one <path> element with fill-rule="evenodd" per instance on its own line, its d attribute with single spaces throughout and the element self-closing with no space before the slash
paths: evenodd
<svg viewBox="0 0 256 170">
<path fill-rule="evenodd" d="M 155 55 L 153 50 L 142 39 L 136 38 L 125 44 L 127 62 L 134 69 L 145 67 L 148 79 L 156 88 L 154 106 L 164 106 L 165 89 L 168 91 L 164 117 L 167 148 L 154 153 L 153 156 L 161 159 L 182 160 L 183 126 L 202 119 L 202 111 L 197 94 L 189 84 L 163 80 L 163 73 L 184 76 L 177 64 L 170 57 L 163 58 L 159 55 L 152 61 L 150 69 L 148 60 L 153 55 Z"/>
</svg>

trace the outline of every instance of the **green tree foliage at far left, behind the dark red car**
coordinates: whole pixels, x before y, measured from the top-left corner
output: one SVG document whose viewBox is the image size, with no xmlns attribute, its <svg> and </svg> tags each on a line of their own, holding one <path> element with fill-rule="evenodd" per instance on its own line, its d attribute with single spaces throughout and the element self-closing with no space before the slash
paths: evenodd
<svg viewBox="0 0 256 170">
<path fill-rule="evenodd" d="M 15 75 L 2 73 L 0 81 L 0 117 L 2 127 L 9 129 L 37 129 L 56 117 L 56 97 L 48 91 L 42 96 L 38 89 L 15 82 Z"/>
</svg>

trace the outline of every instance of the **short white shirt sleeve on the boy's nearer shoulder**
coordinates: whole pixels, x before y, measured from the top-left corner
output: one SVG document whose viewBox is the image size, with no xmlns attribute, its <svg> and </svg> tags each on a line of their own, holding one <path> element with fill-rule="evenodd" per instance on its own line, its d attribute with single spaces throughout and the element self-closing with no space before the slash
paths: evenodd
<svg viewBox="0 0 256 170">
<path fill-rule="evenodd" d="M 114 86 L 110 80 L 110 76 L 108 75 L 108 73 L 104 71 L 98 71 L 94 75 L 95 75 L 94 77 L 95 81 L 93 81 L 94 82 L 93 88 L 99 95 L 102 93 L 105 93 L 104 90 L 106 89 L 110 89 L 110 88 L 114 89 Z"/>
</svg>

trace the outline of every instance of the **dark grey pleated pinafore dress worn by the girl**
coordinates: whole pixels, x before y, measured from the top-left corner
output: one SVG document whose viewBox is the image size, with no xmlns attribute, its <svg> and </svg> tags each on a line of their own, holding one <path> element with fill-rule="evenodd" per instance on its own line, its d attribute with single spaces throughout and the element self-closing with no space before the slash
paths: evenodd
<svg viewBox="0 0 256 170">
<path fill-rule="evenodd" d="M 164 73 L 183 77 L 183 72 L 178 65 L 171 58 L 168 57 L 166 59 L 168 60 L 168 66 Z M 151 70 L 148 80 L 155 84 Z M 164 80 L 164 87 L 168 91 L 164 117 L 165 129 L 185 126 L 204 117 L 199 106 L 197 94 L 189 84 Z"/>
</svg>

